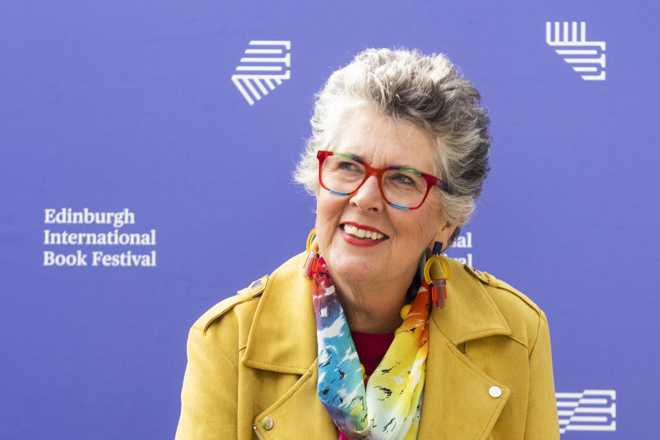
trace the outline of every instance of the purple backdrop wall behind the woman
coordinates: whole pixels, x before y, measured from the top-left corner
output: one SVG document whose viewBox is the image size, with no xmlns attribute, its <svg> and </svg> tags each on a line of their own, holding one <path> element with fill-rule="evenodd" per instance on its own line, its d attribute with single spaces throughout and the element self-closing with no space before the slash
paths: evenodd
<svg viewBox="0 0 660 440">
<path fill-rule="evenodd" d="M 365 47 L 399 45 L 448 54 L 492 118 L 472 247 L 452 255 L 546 311 L 558 393 L 614 392 L 595 405 L 603 421 L 566 416 L 562 438 L 650 438 L 659 12 L 611 0 L 3 1 L 0 438 L 173 437 L 188 327 L 303 250 L 314 199 L 290 173 L 314 93 Z M 586 23 L 579 44 L 547 43 L 547 22 L 562 34 L 573 21 Z M 252 83 L 259 100 L 244 85 L 250 105 L 232 76 L 264 40 L 290 42 L 273 46 L 290 65 L 275 64 L 266 95 Z M 45 223 L 63 208 L 127 208 L 135 221 Z M 45 244 L 45 230 L 97 243 Z M 155 243 L 98 243 L 114 230 L 154 230 Z M 44 265 L 78 252 L 69 263 L 87 265 Z"/>
</svg>

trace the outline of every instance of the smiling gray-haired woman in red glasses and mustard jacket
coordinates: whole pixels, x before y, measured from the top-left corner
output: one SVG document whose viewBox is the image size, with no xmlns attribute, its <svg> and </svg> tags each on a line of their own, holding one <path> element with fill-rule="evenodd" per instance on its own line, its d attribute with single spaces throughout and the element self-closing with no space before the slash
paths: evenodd
<svg viewBox="0 0 660 440">
<path fill-rule="evenodd" d="M 441 256 L 488 123 L 442 55 L 366 50 L 332 74 L 296 171 L 308 252 L 192 326 L 177 439 L 559 438 L 543 312 Z"/>
</svg>

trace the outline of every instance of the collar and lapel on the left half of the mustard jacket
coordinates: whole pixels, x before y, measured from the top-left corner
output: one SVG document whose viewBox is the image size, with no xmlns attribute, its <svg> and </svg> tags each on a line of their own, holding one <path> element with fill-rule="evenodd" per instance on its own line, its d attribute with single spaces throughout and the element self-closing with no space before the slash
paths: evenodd
<svg viewBox="0 0 660 440">
<path fill-rule="evenodd" d="M 255 421 L 275 421 L 267 432 L 255 423 L 263 439 L 337 439 L 337 428 L 316 393 L 316 316 L 303 263 L 296 256 L 269 277 L 243 355 L 246 366 L 300 375 L 292 388 L 256 415 Z"/>
</svg>

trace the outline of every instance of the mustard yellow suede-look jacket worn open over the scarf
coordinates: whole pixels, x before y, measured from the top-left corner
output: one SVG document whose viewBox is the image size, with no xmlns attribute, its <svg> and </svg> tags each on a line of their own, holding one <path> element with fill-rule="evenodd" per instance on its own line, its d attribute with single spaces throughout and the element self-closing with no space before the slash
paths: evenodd
<svg viewBox="0 0 660 440">
<path fill-rule="evenodd" d="M 303 254 L 190 329 L 177 440 L 336 440 L 316 396 L 316 320 Z M 559 439 L 543 312 L 485 272 L 450 261 L 432 309 L 420 440 Z"/>
</svg>

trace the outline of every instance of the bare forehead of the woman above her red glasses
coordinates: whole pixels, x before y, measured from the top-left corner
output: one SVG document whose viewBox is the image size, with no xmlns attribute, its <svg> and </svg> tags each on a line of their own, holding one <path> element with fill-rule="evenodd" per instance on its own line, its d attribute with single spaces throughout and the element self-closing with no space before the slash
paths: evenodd
<svg viewBox="0 0 660 440">
<path fill-rule="evenodd" d="M 346 115 L 332 150 L 359 156 L 377 168 L 408 166 L 424 173 L 433 173 L 435 168 L 435 146 L 426 131 L 371 109 L 355 109 Z"/>
</svg>

